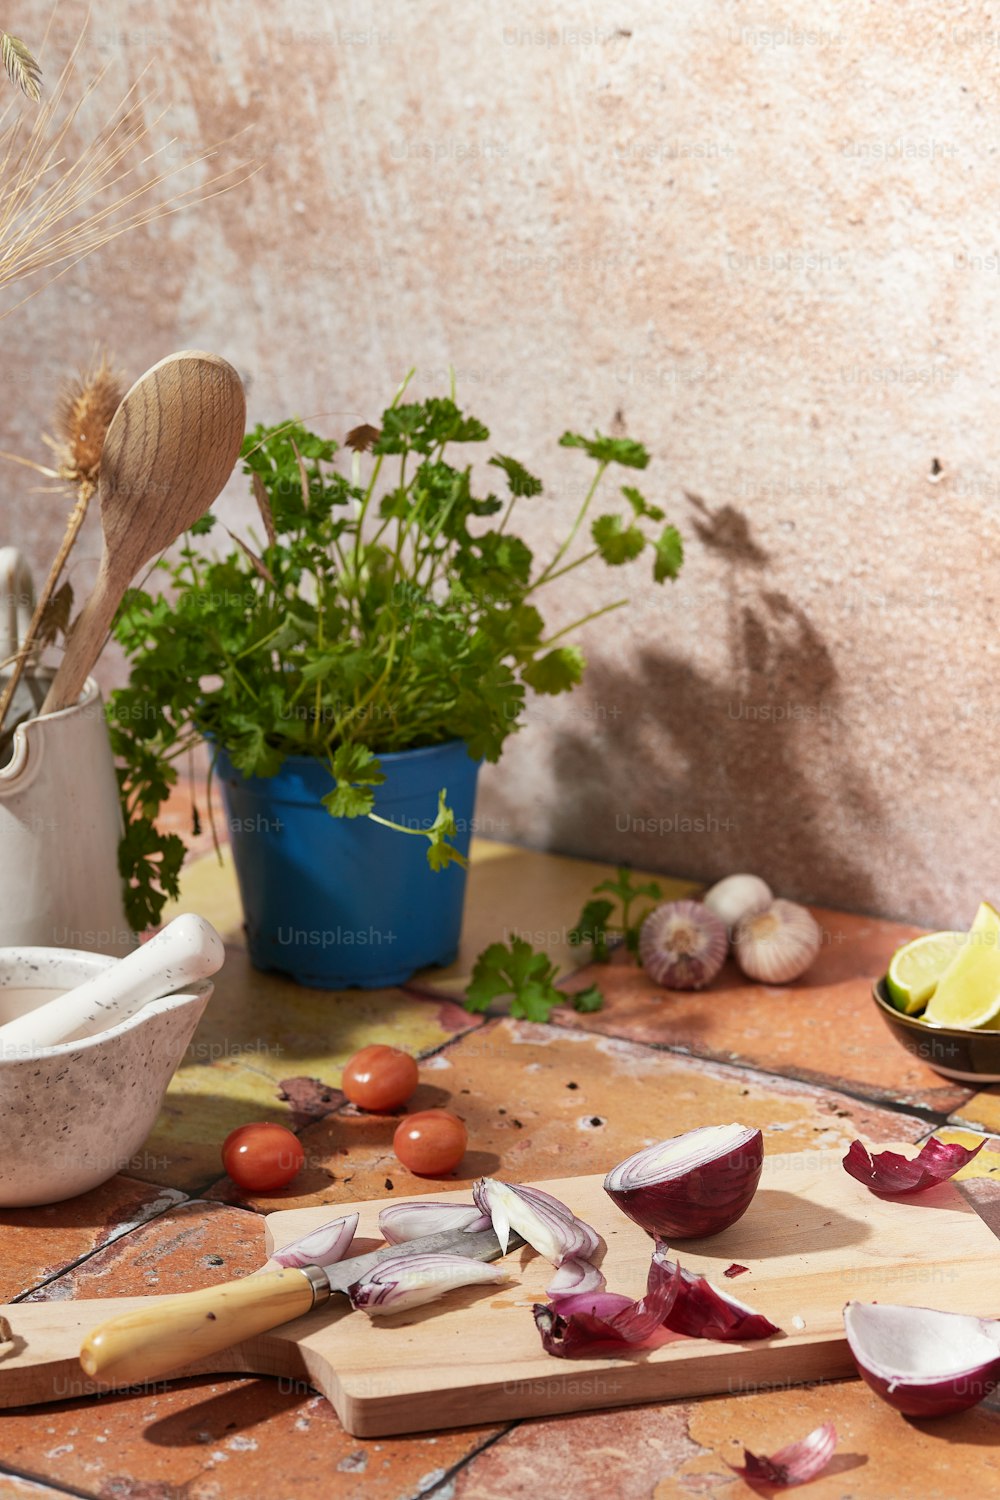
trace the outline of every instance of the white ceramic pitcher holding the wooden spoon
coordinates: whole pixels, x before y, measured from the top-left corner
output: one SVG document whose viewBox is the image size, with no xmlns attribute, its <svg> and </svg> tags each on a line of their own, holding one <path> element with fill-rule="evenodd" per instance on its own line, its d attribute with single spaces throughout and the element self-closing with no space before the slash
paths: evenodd
<svg viewBox="0 0 1000 1500">
<path fill-rule="evenodd" d="M 4 549 L 0 558 L 0 634 L 7 648 L 0 660 L 16 650 L 13 620 L 21 630 L 24 621 L 25 573 L 12 554 Z M 16 603 L 9 594 L 13 580 Z M 136 939 L 121 900 L 121 832 L 103 702 L 87 678 L 72 708 L 18 724 L 13 753 L 0 766 L 0 946 L 130 952 Z"/>
</svg>

